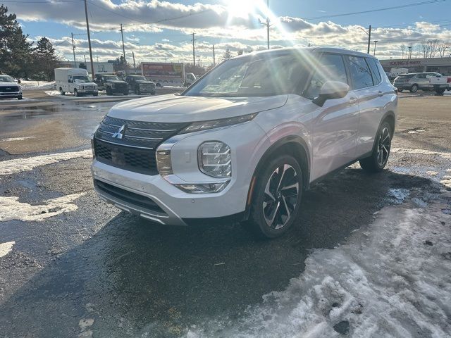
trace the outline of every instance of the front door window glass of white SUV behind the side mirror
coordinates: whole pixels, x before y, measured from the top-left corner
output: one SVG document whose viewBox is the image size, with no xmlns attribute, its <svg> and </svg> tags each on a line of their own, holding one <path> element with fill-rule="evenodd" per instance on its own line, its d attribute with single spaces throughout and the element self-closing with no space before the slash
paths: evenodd
<svg viewBox="0 0 451 338">
<path fill-rule="evenodd" d="M 319 89 L 326 81 L 347 82 L 346 68 L 343 58 L 337 54 L 324 54 L 311 77 L 309 87 L 304 91 L 304 96 L 313 99 L 319 95 Z"/>
</svg>

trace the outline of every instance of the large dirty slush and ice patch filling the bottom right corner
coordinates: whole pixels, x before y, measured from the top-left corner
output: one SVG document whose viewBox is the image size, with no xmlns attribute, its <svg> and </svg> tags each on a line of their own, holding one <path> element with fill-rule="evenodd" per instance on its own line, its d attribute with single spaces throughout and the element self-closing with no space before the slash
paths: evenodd
<svg viewBox="0 0 451 338">
<path fill-rule="evenodd" d="M 347 244 L 316 250 L 283 292 L 194 337 L 450 337 L 451 215 L 445 204 L 388 206 Z M 340 333 L 339 333 L 340 332 Z"/>
</svg>

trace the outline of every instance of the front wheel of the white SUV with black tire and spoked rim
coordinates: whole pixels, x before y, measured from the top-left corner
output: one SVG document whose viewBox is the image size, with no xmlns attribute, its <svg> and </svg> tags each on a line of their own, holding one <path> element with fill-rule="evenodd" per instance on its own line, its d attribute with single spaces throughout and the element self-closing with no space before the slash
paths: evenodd
<svg viewBox="0 0 451 338">
<path fill-rule="evenodd" d="M 290 155 L 276 156 L 257 174 L 245 226 L 259 238 L 276 238 L 292 227 L 302 197 L 302 170 Z"/>
</svg>

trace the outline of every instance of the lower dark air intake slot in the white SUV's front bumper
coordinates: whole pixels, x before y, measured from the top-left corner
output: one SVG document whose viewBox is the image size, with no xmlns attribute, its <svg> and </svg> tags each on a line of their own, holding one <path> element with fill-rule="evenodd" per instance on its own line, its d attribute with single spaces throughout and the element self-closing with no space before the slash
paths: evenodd
<svg viewBox="0 0 451 338">
<path fill-rule="evenodd" d="M 129 192 L 128 190 L 121 189 L 99 180 L 94 180 L 94 187 L 97 187 L 97 189 L 101 192 L 109 194 L 120 201 L 132 204 L 133 206 L 139 206 L 149 211 L 166 214 L 158 204 L 156 204 L 152 199 L 149 199 L 147 196 L 135 194 L 134 192 Z"/>
</svg>

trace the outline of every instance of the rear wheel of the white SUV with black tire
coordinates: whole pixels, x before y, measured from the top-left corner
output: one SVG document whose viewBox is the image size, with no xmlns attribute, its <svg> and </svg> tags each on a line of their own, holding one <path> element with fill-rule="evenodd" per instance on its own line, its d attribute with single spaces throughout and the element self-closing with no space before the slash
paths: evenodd
<svg viewBox="0 0 451 338">
<path fill-rule="evenodd" d="M 362 158 L 359 163 L 367 173 L 379 173 L 387 165 L 392 144 L 392 126 L 387 121 L 383 122 L 374 140 L 371 156 Z"/>
</svg>

